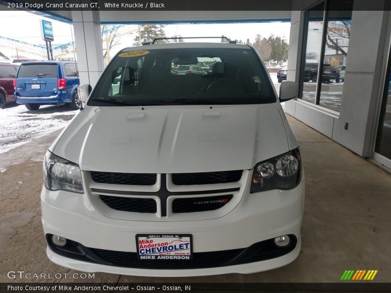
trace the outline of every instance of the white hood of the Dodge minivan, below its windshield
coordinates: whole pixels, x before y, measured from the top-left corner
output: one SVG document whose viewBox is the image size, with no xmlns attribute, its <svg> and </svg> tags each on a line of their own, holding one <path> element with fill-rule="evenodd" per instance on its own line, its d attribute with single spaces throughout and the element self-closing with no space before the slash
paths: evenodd
<svg viewBox="0 0 391 293">
<path fill-rule="evenodd" d="M 82 170 L 183 173 L 251 169 L 289 146 L 273 104 L 86 106 L 51 150 Z"/>
</svg>

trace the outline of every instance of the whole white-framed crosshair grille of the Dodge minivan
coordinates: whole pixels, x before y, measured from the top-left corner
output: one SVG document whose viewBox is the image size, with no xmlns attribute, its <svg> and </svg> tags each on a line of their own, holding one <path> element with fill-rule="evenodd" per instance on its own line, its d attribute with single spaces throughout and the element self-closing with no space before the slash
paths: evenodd
<svg viewBox="0 0 391 293">
<path fill-rule="evenodd" d="M 211 178 L 208 178 L 207 174 L 210 174 Z M 246 178 L 242 179 L 243 174 Z M 156 216 L 180 217 L 180 213 L 193 213 L 189 215 L 192 218 L 209 218 L 214 215 L 197 212 L 221 209 L 218 212 L 221 214 L 227 207 L 234 208 L 232 202 L 238 202 L 248 174 L 247 170 L 182 174 L 87 171 L 85 178 L 91 202 L 99 202 L 98 205 L 103 209 L 106 206 L 109 209 L 132 212 L 118 215 L 124 219 L 136 219 L 137 215 L 134 213 L 153 214 L 151 219 Z M 186 181 L 184 184 L 190 185 L 178 186 L 183 180 Z M 202 182 L 204 186 L 201 185 Z M 212 183 L 216 184 L 211 185 Z M 141 186 L 146 184 L 150 186 Z M 193 184 L 196 185 L 192 186 Z M 222 209 L 223 207 L 225 208 Z M 113 211 L 109 209 L 101 212 L 110 216 Z M 146 216 L 143 217 L 147 219 Z"/>
</svg>

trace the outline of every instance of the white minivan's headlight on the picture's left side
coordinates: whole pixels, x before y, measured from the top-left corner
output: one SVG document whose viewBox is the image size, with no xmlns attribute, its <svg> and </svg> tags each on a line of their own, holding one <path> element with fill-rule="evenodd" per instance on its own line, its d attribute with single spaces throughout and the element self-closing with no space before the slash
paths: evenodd
<svg viewBox="0 0 391 293">
<path fill-rule="evenodd" d="M 66 190 L 83 193 L 79 165 L 67 161 L 50 151 L 43 161 L 43 183 L 49 190 Z"/>
</svg>

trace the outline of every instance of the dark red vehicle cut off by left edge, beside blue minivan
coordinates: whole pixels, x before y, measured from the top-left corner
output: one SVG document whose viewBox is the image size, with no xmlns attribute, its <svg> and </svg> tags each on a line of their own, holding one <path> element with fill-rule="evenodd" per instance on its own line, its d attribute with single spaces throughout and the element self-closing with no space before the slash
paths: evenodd
<svg viewBox="0 0 391 293">
<path fill-rule="evenodd" d="M 14 82 L 18 66 L 10 63 L 0 63 L 0 108 L 15 102 Z"/>
</svg>

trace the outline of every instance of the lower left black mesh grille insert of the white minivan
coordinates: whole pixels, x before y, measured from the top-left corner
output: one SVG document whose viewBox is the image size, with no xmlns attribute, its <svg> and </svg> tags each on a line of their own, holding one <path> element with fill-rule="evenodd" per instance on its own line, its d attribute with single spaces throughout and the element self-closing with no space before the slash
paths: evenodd
<svg viewBox="0 0 391 293">
<path fill-rule="evenodd" d="M 133 212 L 156 212 L 156 202 L 152 198 L 132 198 L 100 195 L 100 199 L 111 209 Z"/>
</svg>

